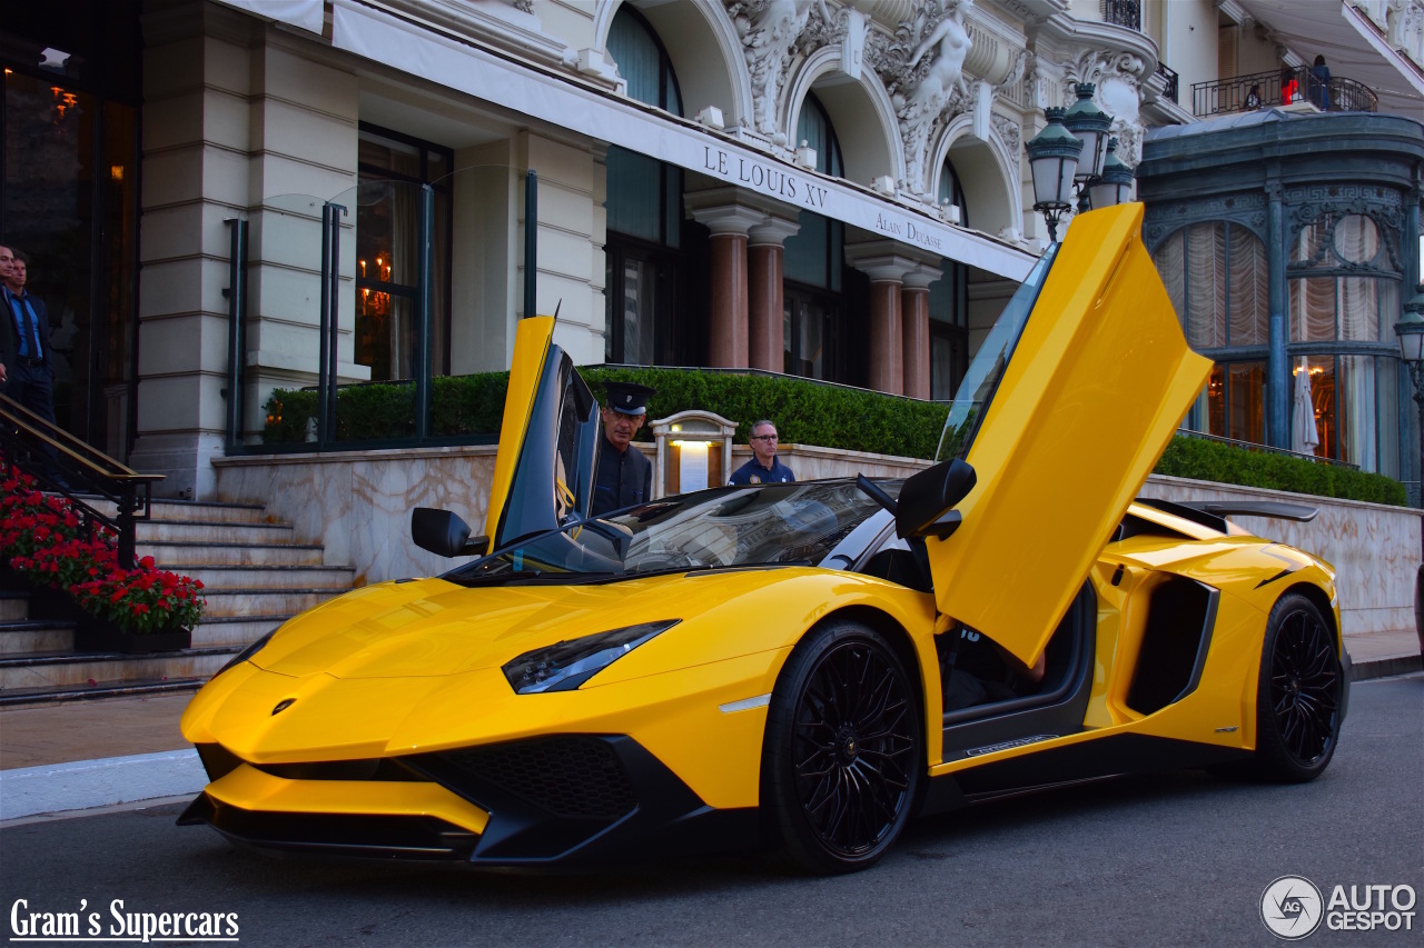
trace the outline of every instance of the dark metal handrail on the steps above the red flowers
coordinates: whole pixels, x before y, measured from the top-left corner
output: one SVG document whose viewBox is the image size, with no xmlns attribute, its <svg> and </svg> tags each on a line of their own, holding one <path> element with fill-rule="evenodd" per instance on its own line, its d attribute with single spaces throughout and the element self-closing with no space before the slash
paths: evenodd
<svg viewBox="0 0 1424 948">
<path fill-rule="evenodd" d="M 3 394 L 0 450 L 7 467 L 28 474 L 44 490 L 64 494 L 85 521 L 114 534 L 118 565 L 134 568 L 138 521 L 150 518 L 154 483 L 164 480 L 162 474 L 140 474 L 124 467 Z M 97 510 L 95 500 L 111 502 L 115 512 Z"/>
</svg>

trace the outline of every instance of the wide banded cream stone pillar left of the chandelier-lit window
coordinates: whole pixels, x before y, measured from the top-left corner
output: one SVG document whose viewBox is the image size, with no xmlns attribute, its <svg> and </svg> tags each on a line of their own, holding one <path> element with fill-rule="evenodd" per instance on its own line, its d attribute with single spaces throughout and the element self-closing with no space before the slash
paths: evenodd
<svg viewBox="0 0 1424 948">
<path fill-rule="evenodd" d="M 224 221 L 252 221 L 241 356 L 248 423 L 261 426 L 263 387 L 315 380 L 316 305 L 296 300 L 316 295 L 318 275 L 302 268 L 318 258 L 305 252 L 319 246 L 320 199 L 356 182 L 357 84 L 309 58 L 326 56 L 323 48 L 218 4 L 150 4 L 142 28 L 142 354 L 130 464 L 164 474 L 155 488 L 162 497 L 212 500 L 209 461 L 224 451 L 228 397 Z M 293 194 L 315 204 L 288 201 L 285 239 L 263 233 L 256 206 Z M 343 222 L 343 273 L 355 263 L 353 225 Z M 340 353 L 349 363 L 349 332 Z"/>
</svg>

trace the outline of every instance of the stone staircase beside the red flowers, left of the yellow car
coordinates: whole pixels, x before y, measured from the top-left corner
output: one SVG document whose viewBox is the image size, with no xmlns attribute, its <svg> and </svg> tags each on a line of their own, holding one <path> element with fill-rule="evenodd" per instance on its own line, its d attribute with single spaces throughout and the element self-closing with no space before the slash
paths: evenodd
<svg viewBox="0 0 1424 948">
<path fill-rule="evenodd" d="M 192 646 L 157 655 L 77 653 L 74 625 L 30 619 L 28 594 L 0 588 L 0 706 L 194 690 L 288 618 L 352 588 L 261 505 L 154 501 L 138 555 L 201 579 L 208 606 Z"/>
</svg>

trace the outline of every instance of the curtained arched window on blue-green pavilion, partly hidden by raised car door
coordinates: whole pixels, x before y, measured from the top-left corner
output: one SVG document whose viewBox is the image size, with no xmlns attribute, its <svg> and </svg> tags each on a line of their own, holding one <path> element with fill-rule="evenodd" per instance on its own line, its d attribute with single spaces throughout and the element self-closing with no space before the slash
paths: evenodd
<svg viewBox="0 0 1424 948">
<path fill-rule="evenodd" d="M 1260 239 L 1227 221 L 1193 223 L 1153 253 L 1186 342 L 1216 360 L 1186 427 L 1266 441 L 1269 268 Z"/>
</svg>

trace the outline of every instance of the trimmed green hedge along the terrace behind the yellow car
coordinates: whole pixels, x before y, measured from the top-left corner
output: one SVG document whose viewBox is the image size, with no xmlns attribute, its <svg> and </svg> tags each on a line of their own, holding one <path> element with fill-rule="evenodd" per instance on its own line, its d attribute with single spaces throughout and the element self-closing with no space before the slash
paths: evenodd
<svg viewBox="0 0 1424 948">
<path fill-rule="evenodd" d="M 746 443 L 758 418 L 772 418 L 782 441 L 893 457 L 933 457 L 947 407 L 913 399 L 823 386 L 785 376 L 743 376 L 686 369 L 580 370 L 604 401 L 608 381 L 638 381 L 656 390 L 649 418 L 688 409 L 716 411 L 738 423 L 736 441 Z M 436 437 L 497 437 L 504 417 L 507 372 L 440 376 L 430 391 L 430 433 Z M 414 436 L 414 386 L 347 386 L 336 396 L 336 437 L 346 441 L 410 438 Z M 268 444 L 302 443 L 316 413 L 316 393 L 278 389 L 266 404 Z M 649 438 L 646 428 L 641 437 Z M 1319 497 L 1396 504 L 1404 485 L 1383 474 L 1334 464 L 1249 451 L 1246 448 L 1176 437 L 1156 465 L 1158 474 L 1222 484 L 1265 487 Z"/>
</svg>

